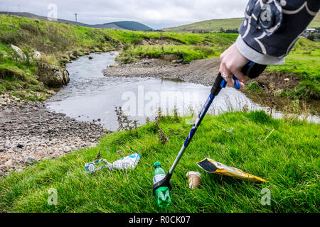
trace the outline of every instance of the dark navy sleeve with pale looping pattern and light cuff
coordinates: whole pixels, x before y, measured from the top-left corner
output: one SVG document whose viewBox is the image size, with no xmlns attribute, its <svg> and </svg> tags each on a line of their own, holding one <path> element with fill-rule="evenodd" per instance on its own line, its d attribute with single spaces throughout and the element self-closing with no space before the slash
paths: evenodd
<svg viewBox="0 0 320 227">
<path fill-rule="evenodd" d="M 260 64 L 284 64 L 319 8 L 320 0 L 250 0 L 239 28 L 238 50 Z"/>
</svg>

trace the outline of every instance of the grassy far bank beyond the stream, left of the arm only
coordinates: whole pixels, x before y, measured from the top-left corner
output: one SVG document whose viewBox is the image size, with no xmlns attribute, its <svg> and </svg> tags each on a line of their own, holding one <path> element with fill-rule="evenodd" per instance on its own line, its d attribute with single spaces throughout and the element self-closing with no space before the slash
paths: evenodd
<svg viewBox="0 0 320 227">
<path fill-rule="evenodd" d="M 14 91 L 16 96 L 30 100 L 43 100 L 47 96 L 48 88 L 36 80 L 35 62 L 18 61 L 10 44 L 21 48 L 27 56 L 30 56 L 33 50 L 41 51 L 43 52 L 41 61 L 60 66 L 65 62 L 66 51 L 75 50 L 78 55 L 85 55 L 90 52 L 119 50 L 122 46 L 132 50 L 137 45 L 141 45 L 142 40 L 149 39 L 168 39 L 172 43 L 178 43 L 173 47 L 173 51 L 167 50 L 167 52 L 179 52 L 186 61 L 191 61 L 218 56 L 218 52 L 233 43 L 235 38 L 236 36 L 232 34 L 199 35 L 85 28 L 65 23 L 0 15 L 0 94 Z M 190 45 L 212 45 L 214 48 L 196 50 L 194 47 L 190 48 Z M 216 50 L 218 51 L 213 54 Z M 135 56 L 135 52 L 134 54 L 125 52 L 122 60 L 131 59 L 132 55 Z"/>
</svg>

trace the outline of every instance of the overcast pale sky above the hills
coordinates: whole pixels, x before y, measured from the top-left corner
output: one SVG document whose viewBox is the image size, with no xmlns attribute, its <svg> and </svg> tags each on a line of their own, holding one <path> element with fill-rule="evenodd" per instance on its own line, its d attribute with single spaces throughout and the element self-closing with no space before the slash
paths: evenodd
<svg viewBox="0 0 320 227">
<path fill-rule="evenodd" d="M 196 21 L 243 17 L 248 0 L 0 0 L 0 11 L 48 16 L 50 4 L 58 18 L 97 24 L 138 21 L 151 28 L 167 28 Z"/>
</svg>

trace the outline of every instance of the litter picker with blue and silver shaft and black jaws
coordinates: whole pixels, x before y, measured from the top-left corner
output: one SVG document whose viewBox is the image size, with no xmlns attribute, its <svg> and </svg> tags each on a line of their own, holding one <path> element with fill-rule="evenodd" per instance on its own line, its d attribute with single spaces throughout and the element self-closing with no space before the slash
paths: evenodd
<svg viewBox="0 0 320 227">
<path fill-rule="evenodd" d="M 255 62 L 249 62 L 247 65 L 242 67 L 243 74 L 247 75 L 247 77 L 253 79 L 255 77 L 258 77 L 264 70 L 267 65 L 260 65 Z M 235 88 L 240 89 L 240 82 L 235 75 L 233 75 L 233 79 L 235 80 Z M 215 78 L 215 82 L 213 82 L 213 87 L 211 89 L 210 95 L 204 104 L 203 108 L 201 109 L 201 112 L 196 119 L 196 123 L 194 123 L 193 127 L 191 128 L 190 133 L 188 134 L 188 137 L 186 138 L 186 141 L 183 143 L 182 148 L 180 152 L 178 153 L 178 156 L 176 157 L 176 160 L 174 160 L 174 164 L 171 166 L 169 172 L 166 174 L 166 177 L 164 179 L 161 179 L 161 181 L 156 182 L 154 186 L 152 187 L 153 193 L 155 194 L 156 189 L 159 189 L 160 187 L 168 187 L 170 190 L 172 189 L 171 186 L 171 176 L 174 173 L 174 170 L 176 169 L 176 166 L 178 165 L 178 162 L 181 160 L 181 157 L 183 153 L 186 151 L 186 148 L 188 148 L 188 145 L 190 144 L 193 135 L 196 133 L 198 127 L 201 124 L 201 121 L 203 120 L 204 116 L 206 116 L 206 113 L 210 107 L 210 105 L 213 102 L 213 99 L 215 99 L 215 96 L 217 96 L 221 89 L 227 86 L 227 82 L 223 77 L 221 76 L 220 72 L 218 73 L 218 76 Z"/>
</svg>

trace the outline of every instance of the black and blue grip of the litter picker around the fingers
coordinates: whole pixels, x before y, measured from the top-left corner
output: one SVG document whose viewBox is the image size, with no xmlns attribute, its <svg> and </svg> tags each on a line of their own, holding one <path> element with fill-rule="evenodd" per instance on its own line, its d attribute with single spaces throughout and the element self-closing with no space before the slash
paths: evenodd
<svg viewBox="0 0 320 227">
<path fill-rule="evenodd" d="M 242 67 L 243 74 L 247 75 L 247 77 L 253 79 L 255 77 L 259 77 L 260 74 L 265 70 L 265 67 L 267 65 L 260 65 L 255 62 L 249 62 L 247 65 Z M 233 79 L 235 80 L 235 88 L 240 89 L 240 82 L 235 75 L 233 75 Z M 227 82 L 225 82 L 225 79 L 221 76 L 220 72 L 218 76 L 215 78 L 215 82 L 213 82 L 213 87 L 211 89 L 211 94 L 214 96 L 218 95 L 222 88 L 227 86 Z"/>
</svg>

